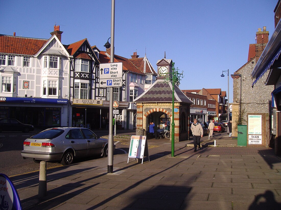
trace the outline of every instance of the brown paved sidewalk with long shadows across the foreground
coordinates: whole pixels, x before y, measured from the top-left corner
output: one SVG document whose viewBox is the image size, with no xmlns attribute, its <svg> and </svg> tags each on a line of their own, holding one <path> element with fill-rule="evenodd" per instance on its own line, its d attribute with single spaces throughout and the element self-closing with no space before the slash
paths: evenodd
<svg viewBox="0 0 281 210">
<path fill-rule="evenodd" d="M 148 139 L 150 161 L 127 163 L 128 154 L 114 155 L 112 174 L 107 158 L 49 169 L 44 198 L 37 196 L 39 172 L 11 179 L 23 209 L 281 209 L 281 158 L 273 149 L 208 146 L 194 152 L 187 143 L 176 142 L 171 157 L 169 139 Z M 128 144 L 118 142 L 116 151 L 128 151 Z"/>
</svg>

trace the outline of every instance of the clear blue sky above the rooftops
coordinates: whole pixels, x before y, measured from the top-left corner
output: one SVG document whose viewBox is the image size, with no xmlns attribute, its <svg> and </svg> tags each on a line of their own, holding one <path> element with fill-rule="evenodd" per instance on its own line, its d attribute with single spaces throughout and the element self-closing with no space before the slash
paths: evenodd
<svg viewBox="0 0 281 210">
<path fill-rule="evenodd" d="M 183 71 L 180 88 L 221 88 L 227 91 L 229 69 L 233 74 L 248 59 L 249 44 L 258 28 L 274 31 L 274 8 L 278 0 L 115 1 L 115 54 L 130 58 L 137 51 L 156 63 L 172 59 Z M 87 38 L 105 50 L 110 37 L 111 1 L 19 1 L 2 0 L 0 34 L 50 38 L 60 25 L 62 43 Z M 225 73 L 224 73 L 225 74 Z M 226 75 L 226 74 L 225 74 Z M 229 75 L 229 102 L 233 101 Z"/>
</svg>

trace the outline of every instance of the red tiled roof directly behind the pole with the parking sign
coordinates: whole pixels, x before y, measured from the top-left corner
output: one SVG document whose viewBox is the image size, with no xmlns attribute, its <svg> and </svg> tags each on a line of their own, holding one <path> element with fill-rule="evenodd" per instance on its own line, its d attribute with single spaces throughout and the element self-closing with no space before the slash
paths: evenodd
<svg viewBox="0 0 281 210">
<path fill-rule="evenodd" d="M 127 59 L 127 58 L 121 57 L 119 55 L 114 55 L 114 62 L 122 62 L 124 71 L 130 71 L 130 72 L 134 72 L 134 73 L 138 73 L 138 74 L 144 74 L 137 66 L 135 66 L 132 62 L 130 62 L 130 60 L 131 59 Z M 105 51 L 101 51 L 99 53 L 99 61 L 101 63 L 109 63 L 110 57 L 108 57 L 106 55 Z"/>
</svg>

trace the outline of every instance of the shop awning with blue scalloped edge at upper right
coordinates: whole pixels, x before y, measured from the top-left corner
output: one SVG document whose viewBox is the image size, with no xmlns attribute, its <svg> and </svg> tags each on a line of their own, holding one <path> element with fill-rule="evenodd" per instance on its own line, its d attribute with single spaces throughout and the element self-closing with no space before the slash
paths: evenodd
<svg viewBox="0 0 281 210">
<path fill-rule="evenodd" d="M 256 78 L 255 83 L 266 73 L 268 69 L 273 69 L 281 66 L 281 21 L 277 24 L 272 37 L 260 55 L 260 58 L 255 66 L 252 77 Z"/>
</svg>

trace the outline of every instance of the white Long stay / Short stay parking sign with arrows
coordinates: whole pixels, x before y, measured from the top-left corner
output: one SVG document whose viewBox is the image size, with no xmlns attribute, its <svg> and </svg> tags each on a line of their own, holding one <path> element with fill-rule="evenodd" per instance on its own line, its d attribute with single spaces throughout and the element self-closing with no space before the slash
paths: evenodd
<svg viewBox="0 0 281 210">
<path fill-rule="evenodd" d="M 99 87 L 122 87 L 122 62 L 99 64 L 99 69 Z"/>
</svg>

